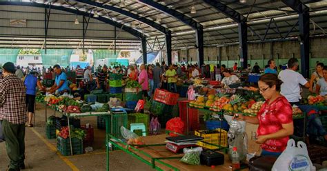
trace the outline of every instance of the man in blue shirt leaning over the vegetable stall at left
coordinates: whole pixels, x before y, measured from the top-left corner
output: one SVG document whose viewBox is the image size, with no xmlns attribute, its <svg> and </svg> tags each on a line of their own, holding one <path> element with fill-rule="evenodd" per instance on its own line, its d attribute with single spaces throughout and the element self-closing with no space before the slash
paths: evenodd
<svg viewBox="0 0 327 171">
<path fill-rule="evenodd" d="M 59 91 L 59 94 L 63 94 L 64 92 L 69 92 L 68 82 L 67 82 L 67 75 L 65 72 L 61 71 L 60 66 L 54 65 L 53 66 L 54 73 L 56 77 L 54 79 L 54 85 L 48 90 L 48 92 L 53 93 L 56 90 Z"/>
</svg>

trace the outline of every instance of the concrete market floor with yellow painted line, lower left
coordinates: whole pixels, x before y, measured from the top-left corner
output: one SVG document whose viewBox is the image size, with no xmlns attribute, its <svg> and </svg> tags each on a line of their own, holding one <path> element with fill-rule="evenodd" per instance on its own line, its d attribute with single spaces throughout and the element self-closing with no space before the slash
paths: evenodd
<svg viewBox="0 0 327 171">
<path fill-rule="evenodd" d="M 48 109 L 48 116 L 54 111 Z M 58 115 L 58 112 L 57 112 Z M 72 157 L 63 157 L 56 152 L 55 139 L 46 139 L 44 105 L 37 104 L 34 128 L 26 127 L 26 170 L 106 170 L 105 132 L 97 130 L 96 117 L 82 118 L 81 124 L 90 123 L 95 128 L 94 151 Z M 5 143 L 0 143 L 0 171 L 7 170 L 8 156 Z M 152 170 L 126 152 L 110 152 L 110 170 Z"/>
</svg>

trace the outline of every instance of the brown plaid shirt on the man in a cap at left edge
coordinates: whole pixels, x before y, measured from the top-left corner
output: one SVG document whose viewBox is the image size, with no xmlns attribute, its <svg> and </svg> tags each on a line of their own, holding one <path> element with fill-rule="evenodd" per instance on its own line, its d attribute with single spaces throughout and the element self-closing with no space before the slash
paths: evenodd
<svg viewBox="0 0 327 171">
<path fill-rule="evenodd" d="M 26 123 L 26 88 L 14 74 L 0 80 L 0 120 L 14 124 Z"/>
</svg>

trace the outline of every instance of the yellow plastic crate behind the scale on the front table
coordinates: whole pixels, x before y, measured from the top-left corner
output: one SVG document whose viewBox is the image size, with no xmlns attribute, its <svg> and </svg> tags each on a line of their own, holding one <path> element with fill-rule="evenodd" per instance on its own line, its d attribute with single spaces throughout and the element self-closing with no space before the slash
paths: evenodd
<svg viewBox="0 0 327 171">
<path fill-rule="evenodd" d="M 204 140 L 207 143 L 201 142 L 199 141 L 197 143 L 197 145 L 204 147 L 204 148 L 208 148 L 211 150 L 215 150 L 218 149 L 218 146 L 215 145 L 219 145 L 222 148 L 227 148 L 227 131 L 226 130 L 221 130 L 220 128 L 216 129 L 215 131 L 217 131 L 217 133 L 207 133 L 208 130 L 196 130 L 195 131 L 195 135 L 199 136 L 199 137 L 204 137 Z M 220 140 L 220 141 L 219 141 Z M 215 144 L 215 145 L 210 145 L 208 143 L 211 144 Z"/>
</svg>

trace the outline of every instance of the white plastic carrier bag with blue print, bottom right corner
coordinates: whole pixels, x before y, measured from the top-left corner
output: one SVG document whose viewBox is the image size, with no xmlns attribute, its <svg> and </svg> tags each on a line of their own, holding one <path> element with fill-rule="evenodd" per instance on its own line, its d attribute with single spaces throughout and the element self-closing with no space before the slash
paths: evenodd
<svg viewBox="0 0 327 171">
<path fill-rule="evenodd" d="M 306 144 L 302 141 L 299 141 L 297 142 L 296 147 L 294 139 L 289 139 L 286 149 L 275 161 L 272 170 L 315 171 L 316 169 L 309 158 Z"/>
</svg>

